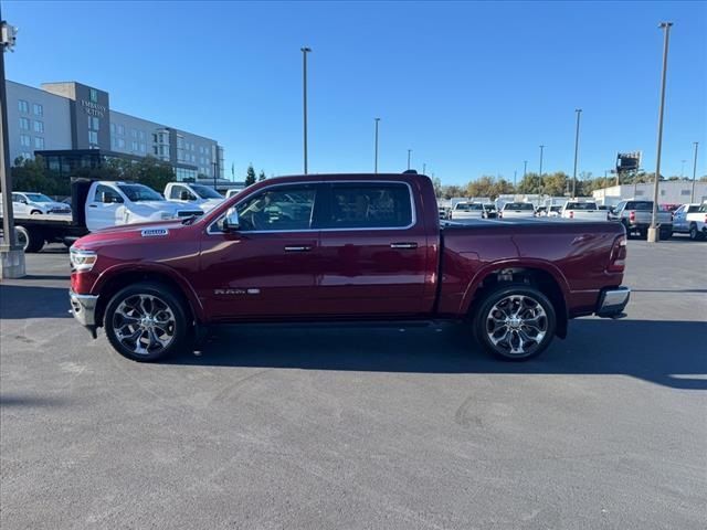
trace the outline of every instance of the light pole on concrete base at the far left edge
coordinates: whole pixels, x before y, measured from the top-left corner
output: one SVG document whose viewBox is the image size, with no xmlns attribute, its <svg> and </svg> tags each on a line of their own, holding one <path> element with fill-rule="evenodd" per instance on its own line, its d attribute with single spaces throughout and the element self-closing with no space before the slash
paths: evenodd
<svg viewBox="0 0 707 530">
<path fill-rule="evenodd" d="M 12 213 L 12 173 L 10 172 L 10 144 L 8 141 L 8 98 L 4 82 L 4 52 L 14 46 L 15 29 L 2 19 L 0 8 L 0 186 L 2 187 L 2 234 L 0 244 L 0 277 L 21 278 L 24 276 L 24 251 L 18 245 Z"/>
</svg>

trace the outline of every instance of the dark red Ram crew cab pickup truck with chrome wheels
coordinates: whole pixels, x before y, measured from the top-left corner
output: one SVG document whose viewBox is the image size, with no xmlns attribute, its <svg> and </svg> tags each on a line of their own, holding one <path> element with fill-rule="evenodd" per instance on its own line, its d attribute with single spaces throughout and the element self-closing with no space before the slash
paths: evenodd
<svg viewBox="0 0 707 530">
<path fill-rule="evenodd" d="M 76 319 L 137 361 L 215 324 L 466 321 L 484 349 L 531 358 L 568 320 L 623 316 L 621 223 L 441 226 L 416 173 L 267 179 L 201 218 L 103 230 L 71 248 Z"/>
</svg>

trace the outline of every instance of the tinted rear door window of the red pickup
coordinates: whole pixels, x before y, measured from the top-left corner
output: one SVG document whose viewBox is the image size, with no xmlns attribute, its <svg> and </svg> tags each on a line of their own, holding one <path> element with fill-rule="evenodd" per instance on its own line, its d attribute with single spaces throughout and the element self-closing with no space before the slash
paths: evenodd
<svg viewBox="0 0 707 530">
<path fill-rule="evenodd" d="M 395 229 L 412 224 L 410 188 L 402 183 L 333 184 L 328 229 Z"/>
</svg>

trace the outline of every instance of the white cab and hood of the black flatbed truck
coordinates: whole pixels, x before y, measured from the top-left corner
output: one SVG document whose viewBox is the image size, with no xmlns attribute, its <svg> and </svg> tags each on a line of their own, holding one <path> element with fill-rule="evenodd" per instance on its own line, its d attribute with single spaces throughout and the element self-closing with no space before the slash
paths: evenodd
<svg viewBox="0 0 707 530">
<path fill-rule="evenodd" d="M 135 182 L 92 182 L 86 198 L 89 232 L 119 224 L 145 223 L 203 215 L 190 204 L 166 201 L 151 188 Z"/>
</svg>

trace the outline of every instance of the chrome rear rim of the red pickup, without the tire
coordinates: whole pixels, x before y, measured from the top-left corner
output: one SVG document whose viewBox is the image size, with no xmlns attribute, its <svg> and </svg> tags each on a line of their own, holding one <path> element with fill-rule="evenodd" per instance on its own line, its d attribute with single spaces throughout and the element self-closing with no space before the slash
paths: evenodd
<svg viewBox="0 0 707 530">
<path fill-rule="evenodd" d="M 542 306 L 525 295 L 509 295 L 498 300 L 486 317 L 488 340 L 508 356 L 524 357 L 536 350 L 548 331 L 548 316 Z"/>
</svg>

